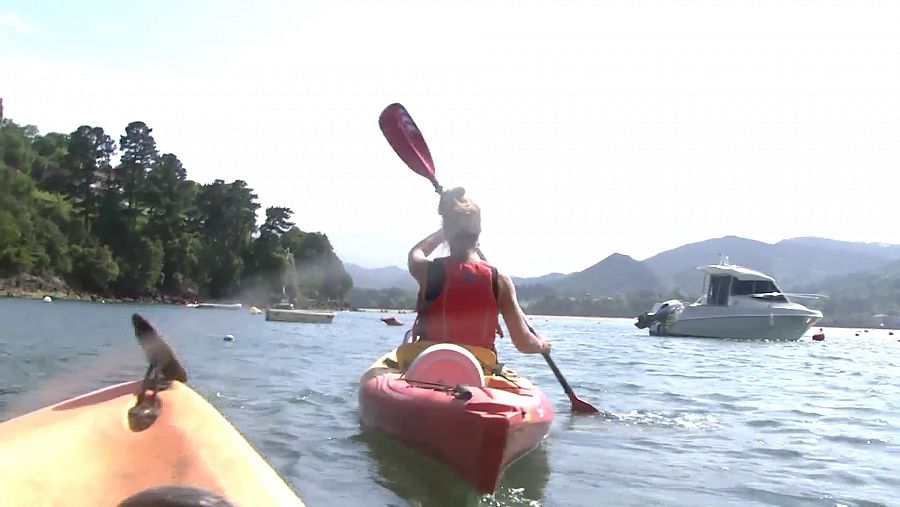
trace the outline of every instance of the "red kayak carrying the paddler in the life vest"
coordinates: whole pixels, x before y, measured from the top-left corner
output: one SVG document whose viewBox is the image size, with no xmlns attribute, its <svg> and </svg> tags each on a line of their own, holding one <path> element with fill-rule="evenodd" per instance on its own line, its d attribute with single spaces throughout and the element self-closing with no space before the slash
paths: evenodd
<svg viewBox="0 0 900 507">
<path fill-rule="evenodd" d="M 506 367 L 485 374 L 484 365 L 496 365 L 487 349 L 401 345 L 363 374 L 362 422 L 491 493 L 506 467 L 547 436 L 553 406 L 528 379 Z"/>
</svg>

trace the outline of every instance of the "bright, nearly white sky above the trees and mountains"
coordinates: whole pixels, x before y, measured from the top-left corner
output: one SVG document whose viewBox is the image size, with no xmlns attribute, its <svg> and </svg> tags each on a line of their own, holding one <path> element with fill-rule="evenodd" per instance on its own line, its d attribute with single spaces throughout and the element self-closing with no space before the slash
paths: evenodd
<svg viewBox="0 0 900 507">
<path fill-rule="evenodd" d="M 0 97 L 43 133 L 144 121 L 189 178 L 246 181 L 366 267 L 440 227 L 378 129 L 400 102 L 482 208 L 488 259 L 538 276 L 725 235 L 900 243 L 897 20 L 887 0 L 5 0 Z"/>
</svg>

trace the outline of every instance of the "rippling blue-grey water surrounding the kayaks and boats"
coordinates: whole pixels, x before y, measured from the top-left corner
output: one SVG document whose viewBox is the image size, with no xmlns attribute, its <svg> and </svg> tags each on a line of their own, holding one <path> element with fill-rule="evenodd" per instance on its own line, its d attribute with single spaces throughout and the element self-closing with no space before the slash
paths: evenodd
<svg viewBox="0 0 900 507">
<path fill-rule="evenodd" d="M 579 397 L 616 417 L 571 415 L 542 358 L 499 340 L 501 360 L 552 396 L 557 417 L 487 496 L 360 428 L 359 376 L 406 329 L 379 313 L 309 325 L 246 310 L 0 299 L 0 420 L 139 378 L 134 312 L 167 334 L 189 383 L 307 505 L 900 505 L 900 332 L 886 330 L 769 343 L 532 318 Z"/>
</svg>

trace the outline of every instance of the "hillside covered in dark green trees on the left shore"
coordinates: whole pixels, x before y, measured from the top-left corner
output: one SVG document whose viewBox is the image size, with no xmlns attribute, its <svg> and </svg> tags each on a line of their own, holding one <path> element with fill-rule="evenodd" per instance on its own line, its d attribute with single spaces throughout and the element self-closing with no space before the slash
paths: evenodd
<svg viewBox="0 0 900 507">
<path fill-rule="evenodd" d="M 245 181 L 201 184 L 140 121 L 114 138 L 83 125 L 0 123 L 0 291 L 35 279 L 120 298 L 341 300 L 352 280 L 328 237 Z"/>
</svg>

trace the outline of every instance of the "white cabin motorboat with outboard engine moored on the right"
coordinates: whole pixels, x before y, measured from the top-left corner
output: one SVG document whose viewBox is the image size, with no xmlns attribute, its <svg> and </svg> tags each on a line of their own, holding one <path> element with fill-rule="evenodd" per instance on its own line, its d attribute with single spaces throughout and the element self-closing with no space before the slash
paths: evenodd
<svg viewBox="0 0 900 507">
<path fill-rule="evenodd" d="M 704 295 L 690 304 L 656 303 L 634 325 L 656 336 L 797 340 L 822 319 L 821 311 L 790 298 L 827 296 L 782 292 L 771 276 L 730 264 L 727 257 L 697 269 L 704 273 Z"/>
</svg>

